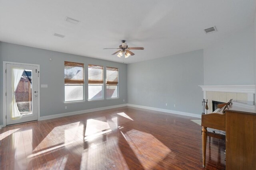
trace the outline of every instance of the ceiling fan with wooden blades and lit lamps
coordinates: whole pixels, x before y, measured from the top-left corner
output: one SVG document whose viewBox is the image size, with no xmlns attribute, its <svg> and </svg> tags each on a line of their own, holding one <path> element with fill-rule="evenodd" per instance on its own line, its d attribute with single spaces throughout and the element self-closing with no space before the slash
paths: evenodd
<svg viewBox="0 0 256 170">
<path fill-rule="evenodd" d="M 125 40 L 122 40 L 122 44 L 119 45 L 119 48 L 104 48 L 104 49 L 119 49 L 112 55 L 115 55 L 118 53 L 117 57 L 121 57 L 124 54 L 125 58 L 128 58 L 130 55 L 135 55 L 130 50 L 144 50 L 144 47 L 128 47 L 127 43 L 125 43 Z"/>
</svg>

